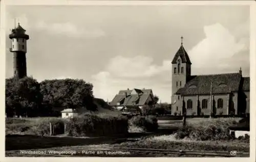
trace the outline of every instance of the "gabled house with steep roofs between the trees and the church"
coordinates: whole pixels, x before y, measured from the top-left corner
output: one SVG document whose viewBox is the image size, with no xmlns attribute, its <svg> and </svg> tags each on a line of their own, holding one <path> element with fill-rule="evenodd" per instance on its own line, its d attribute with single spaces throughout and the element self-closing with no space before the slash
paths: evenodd
<svg viewBox="0 0 256 162">
<path fill-rule="evenodd" d="M 144 105 L 154 102 L 154 95 L 151 89 L 120 90 L 110 102 L 115 109 L 121 110 L 125 106 L 138 106 L 140 109 Z"/>
</svg>

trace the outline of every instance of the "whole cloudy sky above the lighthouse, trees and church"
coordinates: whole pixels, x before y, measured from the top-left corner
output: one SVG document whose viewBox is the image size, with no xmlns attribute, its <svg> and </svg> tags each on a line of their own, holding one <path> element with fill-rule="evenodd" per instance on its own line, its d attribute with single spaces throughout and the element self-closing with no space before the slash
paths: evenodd
<svg viewBox="0 0 256 162">
<path fill-rule="evenodd" d="M 6 77 L 13 76 L 15 18 L 30 36 L 28 76 L 81 78 L 105 101 L 145 88 L 170 103 L 181 36 L 192 75 L 241 67 L 249 76 L 249 6 L 7 6 Z"/>
</svg>

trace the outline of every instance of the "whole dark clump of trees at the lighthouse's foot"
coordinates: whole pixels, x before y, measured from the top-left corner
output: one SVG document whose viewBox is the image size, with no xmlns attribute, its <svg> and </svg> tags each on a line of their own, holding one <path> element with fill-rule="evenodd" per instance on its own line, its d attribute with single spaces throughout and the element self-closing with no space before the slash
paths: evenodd
<svg viewBox="0 0 256 162">
<path fill-rule="evenodd" d="M 96 111 L 93 85 L 82 79 L 53 79 L 38 83 L 33 77 L 6 79 L 6 115 L 51 116 L 53 107 Z"/>
</svg>

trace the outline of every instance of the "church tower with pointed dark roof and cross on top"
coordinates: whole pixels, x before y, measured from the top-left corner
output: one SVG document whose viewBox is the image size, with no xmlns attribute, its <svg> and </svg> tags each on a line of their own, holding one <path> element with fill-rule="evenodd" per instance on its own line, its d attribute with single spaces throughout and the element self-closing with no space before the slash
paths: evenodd
<svg viewBox="0 0 256 162">
<path fill-rule="evenodd" d="M 172 61 L 172 104 L 179 99 L 180 96 L 175 95 L 178 89 L 184 87 L 191 76 L 191 62 L 183 47 L 183 37 L 181 37 L 181 46 L 176 52 Z"/>
</svg>

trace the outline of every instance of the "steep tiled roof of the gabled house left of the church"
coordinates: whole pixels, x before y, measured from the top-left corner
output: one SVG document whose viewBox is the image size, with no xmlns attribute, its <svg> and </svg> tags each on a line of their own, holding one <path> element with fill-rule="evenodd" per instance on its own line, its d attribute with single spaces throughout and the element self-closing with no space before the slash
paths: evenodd
<svg viewBox="0 0 256 162">
<path fill-rule="evenodd" d="M 123 103 L 120 105 L 144 105 L 147 98 L 150 97 L 152 94 L 151 89 L 147 90 L 139 90 L 135 89 L 137 94 L 131 94 L 132 90 L 121 90 L 119 93 L 114 97 L 114 99 L 110 102 L 111 105 L 117 105 L 117 102 L 121 102 L 123 100 Z M 125 94 L 126 92 L 126 94 Z"/>
</svg>

